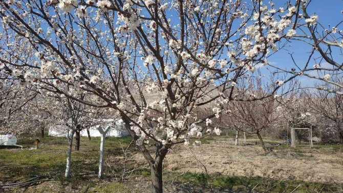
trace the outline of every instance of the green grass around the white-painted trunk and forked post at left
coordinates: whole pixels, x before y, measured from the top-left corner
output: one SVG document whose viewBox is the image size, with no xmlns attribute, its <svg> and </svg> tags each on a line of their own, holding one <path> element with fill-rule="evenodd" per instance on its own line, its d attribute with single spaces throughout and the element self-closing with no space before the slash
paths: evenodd
<svg viewBox="0 0 343 193">
<path fill-rule="evenodd" d="M 62 137 L 41 138 L 39 149 L 33 147 L 35 138 L 19 138 L 17 144 L 24 149 L 0 149 L 0 177 L 6 181 L 20 180 L 34 175 L 62 176 L 66 169 L 68 139 Z M 131 137 L 106 138 L 105 157 L 122 156 L 122 147 L 130 144 Z M 81 137 L 80 151 L 72 152 L 72 173 L 98 170 L 100 138 Z M 136 148 L 132 145 L 131 148 Z M 85 167 L 87 165 L 87 167 Z M 108 170 L 105 172 L 108 172 Z M 2 179 L 0 179 L 2 180 Z"/>
</svg>

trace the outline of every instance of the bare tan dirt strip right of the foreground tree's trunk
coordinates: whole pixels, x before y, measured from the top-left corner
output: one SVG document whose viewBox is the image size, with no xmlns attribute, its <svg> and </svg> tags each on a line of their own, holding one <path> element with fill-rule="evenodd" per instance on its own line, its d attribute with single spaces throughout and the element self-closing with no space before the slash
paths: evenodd
<svg viewBox="0 0 343 193">
<path fill-rule="evenodd" d="M 192 153 L 184 146 L 174 148 L 167 155 L 164 167 L 204 173 L 204 165 L 210 174 L 343 183 L 343 155 L 332 149 L 284 148 L 263 155 L 258 145 L 234 146 L 229 141 L 211 141 L 200 147 L 189 146 L 189 150 Z"/>
</svg>

